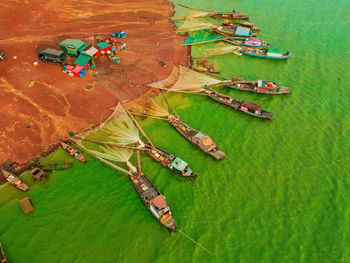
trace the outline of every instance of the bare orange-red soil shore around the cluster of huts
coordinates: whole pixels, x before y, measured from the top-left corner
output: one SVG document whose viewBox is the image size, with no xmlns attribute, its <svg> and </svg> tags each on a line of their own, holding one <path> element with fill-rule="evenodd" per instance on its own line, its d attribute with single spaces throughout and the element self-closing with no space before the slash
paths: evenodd
<svg viewBox="0 0 350 263">
<path fill-rule="evenodd" d="M 0 163 L 22 163 L 46 145 L 100 122 L 118 101 L 137 98 L 145 84 L 166 78 L 173 63 L 186 64 L 183 39 L 169 20 L 166 0 L 5 1 L 0 3 Z M 82 78 L 39 61 L 46 47 L 59 49 L 66 38 L 85 38 L 123 30 L 127 51 L 121 63 L 102 57 Z M 87 41 L 85 41 L 87 42 Z M 17 56 L 17 59 L 13 59 Z M 166 66 L 160 65 L 160 61 Z M 35 81 L 35 86 L 29 83 Z M 92 89 L 85 89 L 86 86 Z"/>
</svg>

